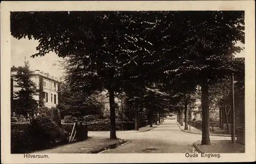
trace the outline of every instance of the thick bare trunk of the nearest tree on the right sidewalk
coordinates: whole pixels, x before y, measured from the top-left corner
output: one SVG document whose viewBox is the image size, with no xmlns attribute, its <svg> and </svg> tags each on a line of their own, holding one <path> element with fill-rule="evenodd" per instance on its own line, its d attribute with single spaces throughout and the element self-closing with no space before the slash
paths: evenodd
<svg viewBox="0 0 256 164">
<path fill-rule="evenodd" d="M 201 86 L 202 92 L 202 141 L 201 145 L 210 145 L 209 135 L 209 106 L 208 106 L 208 85 Z"/>
</svg>

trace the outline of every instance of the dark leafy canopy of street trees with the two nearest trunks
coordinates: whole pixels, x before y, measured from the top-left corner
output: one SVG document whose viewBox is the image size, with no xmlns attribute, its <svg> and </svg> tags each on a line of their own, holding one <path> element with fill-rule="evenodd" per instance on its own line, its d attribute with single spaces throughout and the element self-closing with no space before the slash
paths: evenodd
<svg viewBox="0 0 256 164">
<path fill-rule="evenodd" d="M 49 51 L 65 58 L 73 95 L 108 90 L 111 139 L 115 96 L 125 97 L 136 117 L 146 108 L 153 118 L 180 108 L 187 113 L 200 86 L 202 145 L 210 144 L 210 91 L 232 73 L 243 79 L 244 61 L 233 60 L 242 49 L 236 43 L 244 43 L 242 11 L 11 12 L 11 34 L 39 41 L 33 58 Z"/>
</svg>

